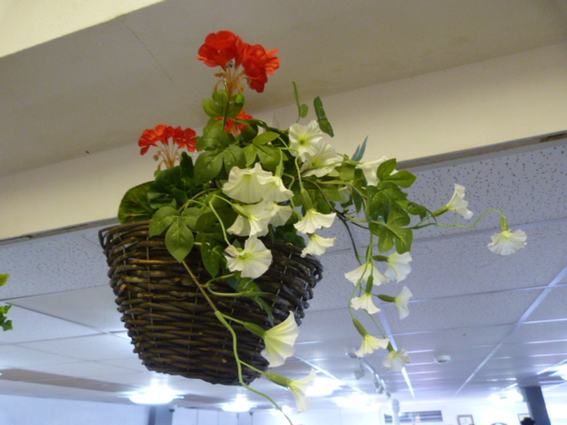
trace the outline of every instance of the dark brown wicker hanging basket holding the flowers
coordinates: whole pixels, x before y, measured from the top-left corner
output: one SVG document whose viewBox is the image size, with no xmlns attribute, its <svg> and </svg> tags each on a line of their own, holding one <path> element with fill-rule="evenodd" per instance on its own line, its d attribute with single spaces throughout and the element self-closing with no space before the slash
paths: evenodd
<svg viewBox="0 0 567 425">
<path fill-rule="evenodd" d="M 148 237 L 149 222 L 109 227 L 99 232 L 110 270 L 110 286 L 132 338 L 134 352 L 145 366 L 156 372 L 198 378 L 213 384 L 238 384 L 232 353 L 232 337 L 217 320 L 210 305 L 193 283 L 183 265 L 167 252 L 163 237 Z M 276 324 L 289 315 L 301 322 L 307 300 L 321 279 L 322 267 L 315 258 L 301 258 L 301 250 L 278 241 L 264 240 L 272 251 L 269 270 L 255 281 L 272 306 Z M 210 279 L 198 250 L 185 261 L 201 283 Z M 223 281 L 217 292 L 234 292 Z M 266 313 L 247 298 L 211 295 L 218 309 L 239 320 L 268 328 Z M 261 338 L 232 323 L 238 335 L 240 358 L 265 370 L 268 362 L 260 355 Z M 243 369 L 247 383 L 259 376 Z"/>
</svg>

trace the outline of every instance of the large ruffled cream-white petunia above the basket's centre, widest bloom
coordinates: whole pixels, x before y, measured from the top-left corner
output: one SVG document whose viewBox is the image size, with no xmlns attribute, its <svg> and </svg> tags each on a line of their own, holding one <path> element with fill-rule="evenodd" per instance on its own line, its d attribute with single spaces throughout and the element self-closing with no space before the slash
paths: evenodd
<svg viewBox="0 0 567 425">
<path fill-rule="evenodd" d="M 259 202 L 270 192 L 269 186 L 260 181 L 260 178 L 270 176 L 272 173 L 264 171 L 260 163 L 256 163 L 251 169 L 232 167 L 229 180 L 222 186 L 222 192 L 236 201 Z"/>
</svg>

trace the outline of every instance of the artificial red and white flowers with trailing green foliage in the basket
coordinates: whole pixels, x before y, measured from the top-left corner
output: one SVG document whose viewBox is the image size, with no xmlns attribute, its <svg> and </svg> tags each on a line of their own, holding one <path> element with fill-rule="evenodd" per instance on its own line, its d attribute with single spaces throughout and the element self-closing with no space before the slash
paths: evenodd
<svg viewBox="0 0 567 425">
<path fill-rule="evenodd" d="M 311 258 L 333 246 L 335 238 L 320 236 L 318 231 L 337 220 L 347 229 L 357 226 L 367 231 L 366 252 L 358 253 L 353 244 L 359 266 L 345 273 L 345 281 L 353 285 L 345 304 L 361 336 L 356 354 L 362 357 L 384 350 L 383 364 L 393 371 L 409 363 L 408 353 L 392 347 L 373 315 L 379 311 L 377 299 L 395 304 L 400 319 L 409 315 L 412 293 L 407 287 L 401 288 L 396 297 L 377 291 L 383 284 L 407 277 L 413 231 L 426 226 L 472 228 L 482 216 L 496 211 L 501 215 L 502 232 L 492 236 L 488 248 L 507 255 L 526 245 L 526 234 L 521 230 L 512 232 L 499 210 L 486 211 L 470 226 L 457 224 L 457 215 L 465 219 L 473 215 L 467 209 L 461 185 L 455 185 L 445 206 L 431 211 L 408 198 L 404 189 L 412 186 L 416 177 L 409 171 L 396 171 L 395 159 L 384 156 L 362 162 L 366 141 L 352 156 L 337 153 L 325 141 L 325 134 L 333 137 L 333 130 L 319 97 L 314 100 L 317 119 L 299 124 L 307 116 L 308 107 L 299 100 L 295 84 L 298 121 L 289 128 L 273 128 L 245 113 L 244 88 L 248 85 L 257 92 L 264 91 L 268 75 L 280 66 L 277 49 L 249 45 L 230 31 L 220 31 L 208 35 L 198 53 L 206 66 L 218 69 L 213 95 L 203 100 L 209 122 L 198 137 L 192 129 L 166 125 L 143 132 L 138 142 L 141 154 L 155 148 L 158 171 L 155 181 L 125 194 L 119 219 L 122 224 L 150 220 L 144 236 L 163 240 L 176 264 L 183 266 L 187 275 L 184 284 L 191 284 L 206 299 L 208 312 L 200 314 L 214 314 L 217 325 L 232 335 L 239 381 L 246 388 L 259 393 L 243 379 L 243 370 L 252 369 L 290 389 L 302 411 L 309 405 L 305 389 L 315 379 L 313 369 L 304 379 L 290 380 L 241 358 L 234 330 L 238 325 L 263 342 L 261 355 L 269 367 L 284 364 L 294 354 L 299 332 L 294 311 L 285 312 L 285 320 L 280 312 L 280 319 L 274 321 L 272 306 L 266 299 L 269 294 L 257 283 L 273 266 L 272 250 L 266 248 L 269 241 L 298 247 L 301 257 Z M 198 152 L 194 163 L 185 149 Z M 455 214 L 454 224 L 438 223 L 440 215 L 451 212 Z M 145 246 L 152 249 L 154 245 Z M 200 257 L 205 275 L 196 275 L 189 265 L 188 260 L 195 257 Z M 151 261 L 145 264 L 147 273 L 151 273 Z M 219 291 L 219 282 L 227 283 L 225 290 Z M 224 297 L 258 303 L 269 325 L 260 326 L 221 312 L 218 305 L 222 301 L 214 301 L 213 296 L 215 300 Z M 355 312 L 373 319 L 378 336 L 362 325 Z M 281 410 L 272 398 L 259 394 Z"/>
</svg>

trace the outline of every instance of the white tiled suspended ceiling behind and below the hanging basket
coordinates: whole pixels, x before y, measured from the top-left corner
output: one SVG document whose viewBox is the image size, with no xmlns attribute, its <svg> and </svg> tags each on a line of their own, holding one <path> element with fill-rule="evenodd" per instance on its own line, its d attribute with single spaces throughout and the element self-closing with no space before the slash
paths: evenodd
<svg viewBox="0 0 567 425">
<path fill-rule="evenodd" d="M 416 235 L 412 273 L 404 282 L 415 295 L 411 315 L 400 321 L 384 305 L 380 318 L 396 344 L 410 352 L 413 362 L 406 370 L 417 400 L 485 398 L 514 383 L 538 381 L 546 392 L 549 388 L 550 394 L 567 397 L 561 378 L 536 376 L 567 359 L 566 146 L 564 140 L 531 152 L 417 172 L 410 193 L 426 205 L 445 204 L 458 181 L 467 187 L 469 207 L 476 214 L 501 207 L 511 227 L 528 233 L 527 247 L 510 257 L 486 249 L 498 226 L 496 217 L 481 223 L 480 230 L 437 229 Z M 322 257 L 324 279 L 301 326 L 298 357 L 277 372 L 303 376 L 309 369 L 306 360 L 344 381 L 343 393 L 349 385 L 373 393 L 373 382 L 367 376 L 357 381 L 353 372 L 358 362 L 345 355 L 360 342 L 345 309 L 352 284 L 343 278 L 355 263 L 352 249 L 342 242 L 344 229 L 337 225 L 330 232 L 341 243 Z M 355 233 L 359 248 L 362 236 Z M 240 391 L 147 372 L 141 366 L 106 284 L 96 229 L 0 245 L 0 264 L 12 274 L 0 299 L 15 306 L 15 330 L 0 334 L 0 368 L 62 375 L 37 382 L 0 379 L 0 393 L 124 401 L 122 394 L 96 386 L 66 388 L 67 377 L 133 388 L 158 379 L 192 394 L 193 400 L 185 403 L 194 406 L 217 404 Z M 383 288 L 396 295 L 400 287 Z M 436 364 L 435 354 L 449 354 L 452 360 Z M 411 399 L 408 381 L 401 373 L 385 371 L 382 356 L 376 353 L 367 360 L 397 398 Z M 288 393 L 264 380 L 255 385 L 276 400 L 290 401 Z M 325 402 L 316 400 L 320 406 Z"/>
</svg>

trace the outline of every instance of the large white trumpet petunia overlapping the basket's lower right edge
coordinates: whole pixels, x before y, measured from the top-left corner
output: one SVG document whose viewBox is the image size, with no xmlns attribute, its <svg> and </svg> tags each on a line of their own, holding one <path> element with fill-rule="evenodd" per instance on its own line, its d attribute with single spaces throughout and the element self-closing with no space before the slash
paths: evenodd
<svg viewBox="0 0 567 425">
<path fill-rule="evenodd" d="M 298 335 L 299 328 L 292 312 L 279 325 L 266 330 L 263 337 L 266 348 L 260 354 L 268 360 L 268 367 L 281 366 L 285 359 L 294 355 L 293 345 Z"/>
</svg>

